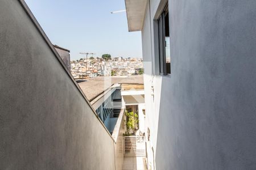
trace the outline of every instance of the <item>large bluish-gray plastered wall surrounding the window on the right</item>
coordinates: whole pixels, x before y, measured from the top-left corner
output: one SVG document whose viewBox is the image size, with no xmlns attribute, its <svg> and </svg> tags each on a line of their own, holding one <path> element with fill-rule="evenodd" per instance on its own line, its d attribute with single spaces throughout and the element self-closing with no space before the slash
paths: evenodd
<svg viewBox="0 0 256 170">
<path fill-rule="evenodd" d="M 150 3 L 144 27 L 159 6 Z M 255 9 L 254 0 L 169 1 L 172 74 L 153 81 L 156 169 L 256 169 Z M 152 32 L 143 28 L 143 55 L 154 54 Z"/>
</svg>

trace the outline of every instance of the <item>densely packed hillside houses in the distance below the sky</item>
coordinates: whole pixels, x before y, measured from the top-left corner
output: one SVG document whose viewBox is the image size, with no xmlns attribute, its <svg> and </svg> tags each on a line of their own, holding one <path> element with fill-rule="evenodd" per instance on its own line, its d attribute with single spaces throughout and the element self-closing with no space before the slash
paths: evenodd
<svg viewBox="0 0 256 170">
<path fill-rule="evenodd" d="M 71 74 L 75 79 L 85 76 L 126 76 L 143 74 L 141 58 L 115 57 L 112 59 L 93 58 L 71 61 Z"/>
</svg>

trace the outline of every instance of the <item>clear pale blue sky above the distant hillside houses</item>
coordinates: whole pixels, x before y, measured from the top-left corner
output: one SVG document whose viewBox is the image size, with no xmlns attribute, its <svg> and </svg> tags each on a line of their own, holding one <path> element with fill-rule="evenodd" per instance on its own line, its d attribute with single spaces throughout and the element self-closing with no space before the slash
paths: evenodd
<svg viewBox="0 0 256 170">
<path fill-rule="evenodd" d="M 124 0 L 25 0 L 52 44 L 97 57 L 142 57 L 141 32 L 128 32 Z M 94 57 L 96 57 L 94 56 Z"/>
</svg>

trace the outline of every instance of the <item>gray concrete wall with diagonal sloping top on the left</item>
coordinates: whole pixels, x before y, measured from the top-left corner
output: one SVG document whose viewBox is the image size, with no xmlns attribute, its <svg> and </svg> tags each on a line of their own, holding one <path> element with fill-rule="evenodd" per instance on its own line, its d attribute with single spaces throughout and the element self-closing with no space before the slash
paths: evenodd
<svg viewBox="0 0 256 170">
<path fill-rule="evenodd" d="M 20 2 L 0 16 L 0 169 L 114 169 L 112 137 Z"/>
</svg>

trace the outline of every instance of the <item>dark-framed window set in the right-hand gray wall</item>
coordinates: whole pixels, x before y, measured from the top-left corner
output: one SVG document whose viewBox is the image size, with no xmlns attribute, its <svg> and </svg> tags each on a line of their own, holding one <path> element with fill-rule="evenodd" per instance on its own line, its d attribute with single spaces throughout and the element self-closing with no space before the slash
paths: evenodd
<svg viewBox="0 0 256 170">
<path fill-rule="evenodd" d="M 171 74 L 170 31 L 168 4 L 158 19 L 159 73 Z"/>
</svg>

